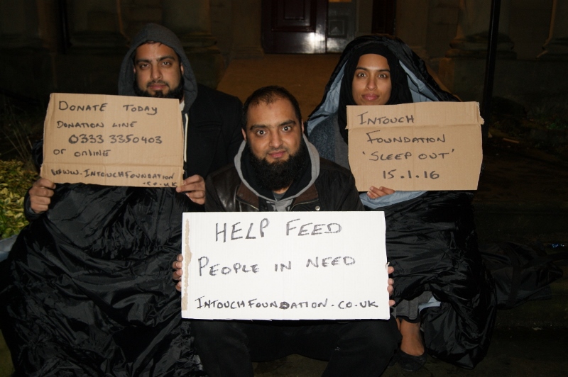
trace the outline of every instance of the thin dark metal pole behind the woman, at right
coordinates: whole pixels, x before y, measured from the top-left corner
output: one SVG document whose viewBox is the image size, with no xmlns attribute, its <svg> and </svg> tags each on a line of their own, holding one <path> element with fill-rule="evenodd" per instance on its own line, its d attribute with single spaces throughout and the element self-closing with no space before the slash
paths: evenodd
<svg viewBox="0 0 568 377">
<path fill-rule="evenodd" d="M 481 117 L 485 120 L 484 126 L 481 128 L 484 140 L 486 140 L 489 135 L 489 122 L 491 121 L 491 97 L 493 96 L 493 77 L 495 76 L 500 10 L 501 0 L 492 0 L 491 17 L 489 20 L 489 43 L 487 46 L 487 59 L 485 64 L 484 97 L 481 101 Z"/>
</svg>

